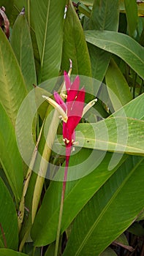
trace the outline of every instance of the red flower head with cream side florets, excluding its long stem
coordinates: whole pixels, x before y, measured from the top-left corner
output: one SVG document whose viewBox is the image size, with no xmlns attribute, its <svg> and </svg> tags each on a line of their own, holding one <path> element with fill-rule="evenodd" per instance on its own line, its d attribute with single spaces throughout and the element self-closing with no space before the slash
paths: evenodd
<svg viewBox="0 0 144 256">
<path fill-rule="evenodd" d="M 85 94 L 84 87 L 80 87 L 80 78 L 77 75 L 74 82 L 71 84 L 69 75 L 64 72 L 64 81 L 66 85 L 67 95 L 62 94 L 66 98 L 66 102 L 61 99 L 61 96 L 55 91 L 54 97 L 56 102 L 50 97 L 42 95 L 48 102 L 53 105 L 56 110 L 60 113 L 61 120 L 63 121 L 63 140 L 69 151 L 67 150 L 66 155 L 70 154 L 72 145 L 75 144 L 75 128 L 80 122 L 82 116 L 91 108 L 97 99 L 89 102 L 84 108 Z"/>
</svg>

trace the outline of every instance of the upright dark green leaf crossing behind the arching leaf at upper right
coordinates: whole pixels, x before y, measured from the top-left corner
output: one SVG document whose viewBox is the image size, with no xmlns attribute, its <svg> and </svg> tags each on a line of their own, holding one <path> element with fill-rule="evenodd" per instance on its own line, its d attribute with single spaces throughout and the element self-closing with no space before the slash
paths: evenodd
<svg viewBox="0 0 144 256">
<path fill-rule="evenodd" d="M 118 15 L 118 0 L 95 0 L 88 29 L 117 31 Z M 92 76 L 97 80 L 103 80 L 111 54 L 90 44 L 88 44 L 88 50 L 91 57 Z"/>
</svg>

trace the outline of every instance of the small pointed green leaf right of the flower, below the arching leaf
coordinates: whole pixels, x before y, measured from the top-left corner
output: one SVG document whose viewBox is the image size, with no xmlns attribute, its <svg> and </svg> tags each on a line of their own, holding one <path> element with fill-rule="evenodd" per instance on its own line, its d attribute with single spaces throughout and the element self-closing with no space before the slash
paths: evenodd
<svg viewBox="0 0 144 256">
<path fill-rule="evenodd" d="M 127 102 L 132 100 L 129 85 L 113 59 L 111 59 L 110 65 L 107 69 L 105 81 L 107 84 L 108 93 L 110 95 L 110 100 L 115 110 L 118 110 L 119 104 L 118 101 L 115 101 L 113 93 L 116 95 L 116 97 L 118 97 L 122 105 L 126 105 Z"/>
</svg>

